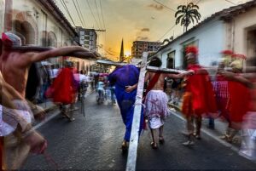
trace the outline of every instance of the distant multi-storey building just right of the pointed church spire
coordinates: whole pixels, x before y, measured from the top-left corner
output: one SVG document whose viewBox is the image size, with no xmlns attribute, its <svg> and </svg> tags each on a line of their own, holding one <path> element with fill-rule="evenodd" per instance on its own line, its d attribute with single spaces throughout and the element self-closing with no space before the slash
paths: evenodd
<svg viewBox="0 0 256 171">
<path fill-rule="evenodd" d="M 162 43 L 159 42 L 135 41 L 132 43 L 131 56 L 134 58 L 142 58 L 143 52 L 154 54 L 160 48 L 161 44 Z"/>
</svg>

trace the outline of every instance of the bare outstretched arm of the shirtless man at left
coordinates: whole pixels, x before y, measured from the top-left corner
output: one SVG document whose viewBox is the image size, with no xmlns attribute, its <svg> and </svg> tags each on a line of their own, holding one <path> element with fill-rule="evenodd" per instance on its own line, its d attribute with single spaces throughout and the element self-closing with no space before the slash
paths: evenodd
<svg viewBox="0 0 256 171">
<path fill-rule="evenodd" d="M 42 52 L 42 53 L 28 53 L 31 57 L 29 58 L 29 62 L 39 62 L 42 60 L 46 60 L 52 57 L 58 56 L 66 56 L 68 54 L 73 54 L 75 52 L 84 52 L 88 53 L 89 50 L 86 48 L 82 48 L 79 46 L 70 46 L 70 47 L 62 47 L 62 48 L 53 48 L 51 50 Z"/>
</svg>

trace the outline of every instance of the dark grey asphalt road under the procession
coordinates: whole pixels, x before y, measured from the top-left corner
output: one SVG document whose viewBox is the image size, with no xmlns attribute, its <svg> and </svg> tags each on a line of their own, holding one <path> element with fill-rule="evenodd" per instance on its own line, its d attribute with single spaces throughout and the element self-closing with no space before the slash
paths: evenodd
<svg viewBox="0 0 256 171">
<path fill-rule="evenodd" d="M 57 168 L 40 155 L 28 157 L 22 169 L 125 170 L 127 155 L 120 150 L 125 127 L 118 106 L 107 102 L 97 105 L 96 94 L 90 94 L 84 106 L 85 117 L 76 111 L 76 120 L 69 123 L 58 115 L 38 129 L 49 142 L 47 154 Z M 180 134 L 183 128 L 180 118 L 169 117 L 164 130 L 166 143 L 157 150 L 150 146 L 149 131 L 143 132 L 137 169 L 256 169 L 255 162 L 240 157 L 207 134 L 202 134 L 202 140 L 193 147 L 184 147 L 186 138 Z"/>
</svg>

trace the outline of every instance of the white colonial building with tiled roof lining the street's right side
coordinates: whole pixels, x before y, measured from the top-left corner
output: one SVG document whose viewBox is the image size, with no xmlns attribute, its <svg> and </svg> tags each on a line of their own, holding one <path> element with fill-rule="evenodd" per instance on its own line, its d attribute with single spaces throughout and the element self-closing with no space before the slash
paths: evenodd
<svg viewBox="0 0 256 171">
<path fill-rule="evenodd" d="M 199 62 L 209 66 L 218 62 L 220 52 L 233 50 L 247 58 L 256 55 L 256 1 L 243 3 L 212 14 L 183 35 L 162 46 L 155 54 L 162 67 L 186 68 L 184 49 L 199 48 Z"/>
</svg>

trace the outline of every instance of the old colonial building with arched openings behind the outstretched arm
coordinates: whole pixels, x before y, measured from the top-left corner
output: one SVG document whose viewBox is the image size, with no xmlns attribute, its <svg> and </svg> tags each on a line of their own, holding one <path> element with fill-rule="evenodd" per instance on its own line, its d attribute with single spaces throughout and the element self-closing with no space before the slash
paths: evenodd
<svg viewBox="0 0 256 171">
<path fill-rule="evenodd" d="M 0 7 L 0 29 L 2 32 L 15 32 L 23 45 L 79 45 L 79 34 L 54 0 L 0 0 Z M 90 66 L 89 60 L 73 60 L 78 62 L 78 69 Z M 50 59 L 49 62 L 62 65 L 61 58 Z"/>
</svg>

